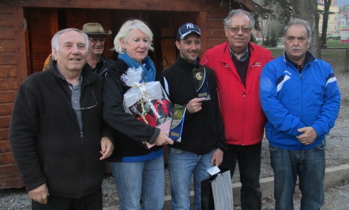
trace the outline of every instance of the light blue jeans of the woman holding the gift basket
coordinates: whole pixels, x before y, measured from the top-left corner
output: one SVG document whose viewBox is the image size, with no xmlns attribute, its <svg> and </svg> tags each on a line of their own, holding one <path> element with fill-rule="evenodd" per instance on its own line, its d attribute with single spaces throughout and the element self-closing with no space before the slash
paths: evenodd
<svg viewBox="0 0 349 210">
<path fill-rule="evenodd" d="M 109 162 L 109 167 L 120 199 L 120 210 L 162 210 L 164 208 L 163 156 L 145 162 Z"/>
</svg>

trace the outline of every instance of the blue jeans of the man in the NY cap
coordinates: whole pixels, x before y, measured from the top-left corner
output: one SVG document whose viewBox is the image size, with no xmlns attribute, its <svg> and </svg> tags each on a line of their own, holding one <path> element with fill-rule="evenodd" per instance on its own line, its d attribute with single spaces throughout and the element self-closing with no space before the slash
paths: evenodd
<svg viewBox="0 0 349 210">
<path fill-rule="evenodd" d="M 201 181 L 210 174 L 206 171 L 210 165 L 214 150 L 197 155 L 180 149 L 168 148 L 168 167 L 171 178 L 171 197 L 173 210 L 189 210 L 190 180 L 194 178 L 194 208 L 201 210 Z"/>
</svg>

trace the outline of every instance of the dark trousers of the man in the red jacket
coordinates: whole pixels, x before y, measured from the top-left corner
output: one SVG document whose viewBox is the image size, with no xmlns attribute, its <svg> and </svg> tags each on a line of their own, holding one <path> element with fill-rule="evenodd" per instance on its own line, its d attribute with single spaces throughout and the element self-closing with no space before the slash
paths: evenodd
<svg viewBox="0 0 349 210">
<path fill-rule="evenodd" d="M 228 147 L 228 151 L 223 154 L 220 168 L 230 169 L 230 174 L 233 176 L 237 161 L 241 182 L 241 209 L 260 210 L 262 192 L 259 191 L 259 175 L 262 143 L 247 146 L 228 144 Z"/>
</svg>

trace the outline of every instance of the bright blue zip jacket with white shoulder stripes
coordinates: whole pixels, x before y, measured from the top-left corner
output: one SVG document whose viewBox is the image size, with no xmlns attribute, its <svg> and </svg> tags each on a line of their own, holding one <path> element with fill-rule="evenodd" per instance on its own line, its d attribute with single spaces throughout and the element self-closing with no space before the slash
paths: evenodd
<svg viewBox="0 0 349 210">
<path fill-rule="evenodd" d="M 285 52 L 284 52 L 285 53 Z M 301 72 L 285 55 L 267 63 L 260 78 L 260 99 L 268 118 L 265 125 L 269 144 L 282 149 L 316 147 L 335 125 L 341 93 L 330 64 L 309 51 Z M 313 144 L 304 145 L 297 129 L 312 126 L 318 134 Z"/>
</svg>

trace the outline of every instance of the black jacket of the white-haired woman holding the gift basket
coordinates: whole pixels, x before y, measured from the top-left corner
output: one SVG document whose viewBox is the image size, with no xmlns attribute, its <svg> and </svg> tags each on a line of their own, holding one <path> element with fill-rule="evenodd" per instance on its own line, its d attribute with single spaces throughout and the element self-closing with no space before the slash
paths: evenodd
<svg viewBox="0 0 349 210">
<path fill-rule="evenodd" d="M 123 162 L 124 157 L 147 155 L 162 149 L 162 146 L 153 146 L 150 149 L 142 146 L 142 141 L 153 144 L 160 128 L 147 125 L 124 110 L 124 94 L 130 87 L 126 86 L 120 77 L 127 69 L 126 63 L 118 60 L 107 69 L 104 78 L 103 118 L 114 129 L 117 145 L 107 159 L 111 162 Z"/>
</svg>

